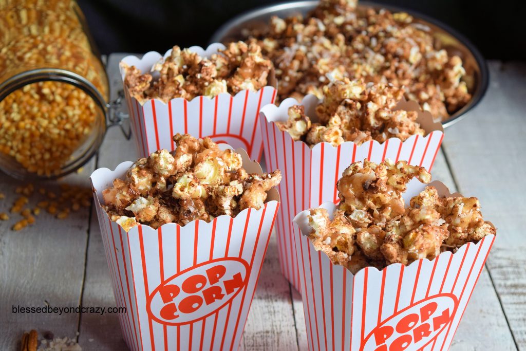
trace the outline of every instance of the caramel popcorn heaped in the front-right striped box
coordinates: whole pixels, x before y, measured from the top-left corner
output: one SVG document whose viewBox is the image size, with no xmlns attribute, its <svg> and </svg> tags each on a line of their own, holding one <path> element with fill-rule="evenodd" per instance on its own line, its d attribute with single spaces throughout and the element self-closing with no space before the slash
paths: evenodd
<svg viewBox="0 0 526 351">
<path fill-rule="evenodd" d="M 429 183 L 422 167 L 386 160 L 350 165 L 338 182 L 340 203 L 332 214 L 310 209 L 309 237 L 317 250 L 352 273 L 433 259 L 446 250 L 496 234 L 484 222 L 476 197 L 439 197 L 427 186 L 405 207 L 401 196 L 413 177 Z"/>
</svg>

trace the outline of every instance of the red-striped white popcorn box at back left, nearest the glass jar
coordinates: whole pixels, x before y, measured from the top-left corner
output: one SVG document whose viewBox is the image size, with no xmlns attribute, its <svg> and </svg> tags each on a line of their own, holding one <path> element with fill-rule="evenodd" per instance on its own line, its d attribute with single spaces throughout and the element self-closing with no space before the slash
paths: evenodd
<svg viewBox="0 0 526 351">
<path fill-rule="evenodd" d="M 224 45 L 214 43 L 206 50 L 199 46 L 189 49 L 201 57 L 210 57 L 224 48 Z M 140 59 L 126 56 L 119 65 L 123 82 L 125 65 L 135 66 L 142 73 L 147 73 L 159 59 L 168 57 L 170 53 L 171 49 L 164 56 L 157 52 L 148 52 Z M 274 72 L 271 72 L 269 85 L 257 92 L 244 90 L 234 96 L 222 93 L 214 98 L 197 96 L 191 101 L 179 97 L 168 103 L 159 99 L 139 102 L 130 96 L 125 87 L 131 131 L 138 155 L 147 157 L 162 148 L 173 150 L 172 136 L 189 133 L 200 138 L 208 136 L 216 143 L 226 143 L 234 148 L 244 148 L 250 159 L 260 161 L 263 141 L 259 130 L 259 110 L 262 106 L 274 104 L 276 84 Z"/>
</svg>

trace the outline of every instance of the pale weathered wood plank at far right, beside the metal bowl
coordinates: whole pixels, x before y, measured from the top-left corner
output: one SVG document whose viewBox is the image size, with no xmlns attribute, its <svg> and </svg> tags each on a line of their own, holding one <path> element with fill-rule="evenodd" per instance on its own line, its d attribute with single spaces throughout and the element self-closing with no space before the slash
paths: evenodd
<svg viewBox="0 0 526 351">
<path fill-rule="evenodd" d="M 526 64 L 491 62 L 490 73 L 486 97 L 448 129 L 443 145 L 459 190 L 479 197 L 498 227 L 487 266 L 515 343 L 526 349 Z"/>
</svg>

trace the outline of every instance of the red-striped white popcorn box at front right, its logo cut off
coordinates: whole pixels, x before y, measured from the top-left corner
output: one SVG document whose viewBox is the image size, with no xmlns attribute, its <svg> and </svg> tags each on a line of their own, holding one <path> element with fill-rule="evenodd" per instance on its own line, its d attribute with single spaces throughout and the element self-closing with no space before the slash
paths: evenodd
<svg viewBox="0 0 526 351">
<path fill-rule="evenodd" d="M 406 203 L 423 189 L 413 179 Z M 439 182 L 439 195 L 450 196 Z M 452 196 L 460 196 L 453 194 Z M 336 205 L 322 206 L 331 214 Z M 494 235 L 454 254 L 353 275 L 332 264 L 306 236 L 308 210 L 294 219 L 294 241 L 309 350 L 447 350 L 488 258 Z"/>
</svg>

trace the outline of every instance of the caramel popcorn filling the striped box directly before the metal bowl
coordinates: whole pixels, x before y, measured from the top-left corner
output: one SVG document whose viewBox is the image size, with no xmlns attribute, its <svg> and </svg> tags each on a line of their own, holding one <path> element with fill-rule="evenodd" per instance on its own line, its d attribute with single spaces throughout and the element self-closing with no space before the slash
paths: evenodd
<svg viewBox="0 0 526 351">
<path fill-rule="evenodd" d="M 400 88 L 343 78 L 323 86 L 322 91 L 323 99 L 316 107 L 318 122 L 312 123 L 303 106 L 294 105 L 289 108 L 287 122 L 276 122 L 281 131 L 311 146 L 321 142 L 333 146 L 370 140 L 383 143 L 395 137 L 403 142 L 411 135 L 425 134 L 416 122 L 416 111 L 395 111 L 403 96 Z"/>
</svg>

